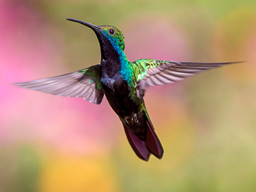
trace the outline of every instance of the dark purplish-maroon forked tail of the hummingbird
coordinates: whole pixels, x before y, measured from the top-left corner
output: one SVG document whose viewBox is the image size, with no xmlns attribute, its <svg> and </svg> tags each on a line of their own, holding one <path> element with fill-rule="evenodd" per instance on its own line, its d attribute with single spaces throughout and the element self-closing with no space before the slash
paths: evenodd
<svg viewBox="0 0 256 192">
<path fill-rule="evenodd" d="M 136 155 L 138 155 L 138 157 L 144 161 L 148 161 L 151 153 L 158 159 L 161 159 L 163 157 L 163 146 L 161 145 L 161 142 L 154 131 L 152 123 L 146 114 L 144 114 L 143 118 L 139 119 L 139 121 L 144 121 L 142 124 L 144 125 L 145 129 L 145 137 L 143 137 L 144 139 L 141 137 L 141 135 L 138 136 L 136 133 L 134 133 L 134 131 L 131 131 L 134 130 L 134 127 L 131 128 L 129 125 L 124 124 L 125 133 L 131 147 Z"/>
</svg>

